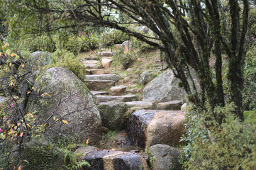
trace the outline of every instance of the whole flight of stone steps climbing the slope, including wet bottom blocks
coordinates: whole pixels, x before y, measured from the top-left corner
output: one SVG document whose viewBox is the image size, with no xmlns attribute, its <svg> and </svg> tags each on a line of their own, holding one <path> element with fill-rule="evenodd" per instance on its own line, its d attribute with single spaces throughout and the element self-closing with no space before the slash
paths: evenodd
<svg viewBox="0 0 256 170">
<path fill-rule="evenodd" d="M 183 101 L 161 103 L 156 101 L 140 101 L 135 94 L 127 94 L 128 86 L 116 86 L 120 77 L 117 74 L 113 74 L 110 69 L 113 62 L 112 57 L 113 52 L 104 49 L 98 52 L 96 57 L 85 57 L 82 63 L 87 67 L 87 76 L 84 81 L 87 83 L 91 93 L 94 94 L 103 125 L 107 130 L 120 131 L 123 128 L 126 129 L 126 132 L 121 137 L 118 137 L 116 143 L 119 146 L 129 143 L 141 148 L 149 148 L 157 144 L 179 145 L 179 137 L 184 130 L 182 124 L 184 121 L 184 111 L 180 111 Z M 119 110 L 122 110 L 123 113 L 120 113 Z M 129 113 L 128 121 L 123 120 L 127 113 Z M 115 129 L 113 127 L 118 128 Z M 111 157 L 111 160 L 113 160 L 116 157 L 122 157 L 122 159 L 126 157 L 126 159 L 123 159 L 124 162 L 131 162 L 134 155 L 138 155 L 138 153 L 130 154 L 130 152 L 120 152 L 118 150 L 120 148 L 114 150 L 112 148 L 108 152 L 94 149 L 90 153 L 93 153 L 91 155 L 98 155 L 101 159 L 104 159 L 104 157 L 109 159 Z M 113 157 L 105 153 L 111 153 Z M 141 159 L 143 157 L 138 156 L 138 162 L 141 162 Z M 144 159 L 146 158 L 144 157 Z M 94 157 L 91 157 L 89 154 L 84 157 L 84 160 L 93 163 Z M 138 164 L 138 162 L 134 164 Z M 96 166 L 93 165 L 92 169 L 96 169 Z M 130 169 L 132 166 L 133 163 L 129 163 L 128 168 Z M 136 167 L 139 166 L 136 165 Z M 149 169 L 144 163 L 141 167 Z"/>
</svg>

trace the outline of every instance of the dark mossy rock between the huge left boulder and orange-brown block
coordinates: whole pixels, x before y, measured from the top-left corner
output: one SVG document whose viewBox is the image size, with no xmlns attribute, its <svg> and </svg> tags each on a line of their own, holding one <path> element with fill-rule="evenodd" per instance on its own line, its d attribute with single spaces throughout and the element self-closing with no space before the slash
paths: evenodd
<svg viewBox="0 0 256 170">
<path fill-rule="evenodd" d="M 128 107 L 120 101 L 109 101 L 99 103 L 102 125 L 109 130 L 123 130 Z"/>
</svg>

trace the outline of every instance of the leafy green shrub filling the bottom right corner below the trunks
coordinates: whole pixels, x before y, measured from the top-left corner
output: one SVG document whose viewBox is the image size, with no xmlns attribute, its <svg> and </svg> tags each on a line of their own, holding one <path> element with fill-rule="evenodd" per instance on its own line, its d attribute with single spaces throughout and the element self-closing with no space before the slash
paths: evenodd
<svg viewBox="0 0 256 170">
<path fill-rule="evenodd" d="M 225 108 L 216 108 L 223 114 L 223 123 L 219 125 L 210 113 L 191 112 L 186 118 L 187 141 L 182 159 L 187 169 L 255 169 L 253 158 L 256 146 L 255 123 L 243 123 L 231 112 L 233 104 Z M 207 116 L 206 116 L 207 115 Z M 211 125 L 211 128 L 207 128 Z"/>
</svg>

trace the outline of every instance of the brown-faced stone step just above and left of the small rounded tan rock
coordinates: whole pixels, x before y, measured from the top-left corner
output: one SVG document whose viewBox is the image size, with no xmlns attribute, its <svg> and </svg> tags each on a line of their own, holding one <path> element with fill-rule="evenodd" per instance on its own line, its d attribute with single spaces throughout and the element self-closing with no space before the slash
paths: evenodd
<svg viewBox="0 0 256 170">
<path fill-rule="evenodd" d="M 113 80 L 85 80 L 85 82 L 91 91 L 103 90 L 116 84 L 116 81 Z"/>
</svg>

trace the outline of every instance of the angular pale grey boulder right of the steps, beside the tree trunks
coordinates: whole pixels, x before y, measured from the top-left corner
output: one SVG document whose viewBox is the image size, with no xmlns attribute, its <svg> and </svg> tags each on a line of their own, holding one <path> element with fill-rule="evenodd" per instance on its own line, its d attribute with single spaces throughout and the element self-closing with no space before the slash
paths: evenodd
<svg viewBox="0 0 256 170">
<path fill-rule="evenodd" d="M 184 88 L 179 88 L 178 84 L 179 79 L 174 77 L 172 70 L 167 70 L 145 86 L 143 100 L 157 102 L 184 100 Z"/>
</svg>

